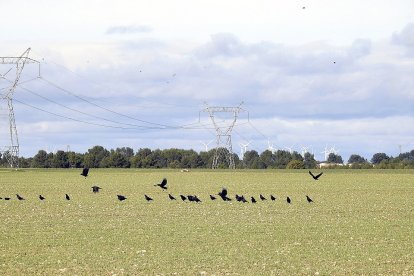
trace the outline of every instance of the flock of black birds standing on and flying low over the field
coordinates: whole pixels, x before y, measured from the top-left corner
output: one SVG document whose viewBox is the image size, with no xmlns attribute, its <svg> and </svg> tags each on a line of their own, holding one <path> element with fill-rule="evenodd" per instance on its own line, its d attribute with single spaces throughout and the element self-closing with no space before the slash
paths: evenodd
<svg viewBox="0 0 414 276">
<path fill-rule="evenodd" d="M 82 175 L 82 176 L 84 176 L 85 178 L 88 176 L 88 173 L 89 173 L 89 168 L 84 168 L 83 170 L 82 170 L 82 173 L 80 174 L 80 175 Z M 317 174 L 317 175 L 314 175 L 311 171 L 309 171 L 309 174 L 312 176 L 312 178 L 314 179 L 314 180 L 319 180 L 319 177 L 323 174 L 322 172 L 321 173 L 319 173 L 319 174 Z M 158 187 L 160 187 L 163 191 L 165 191 L 165 190 L 167 190 L 168 189 L 168 187 L 167 187 L 167 179 L 166 178 L 164 178 L 162 181 L 161 181 L 161 183 L 157 183 L 157 184 L 155 184 L 154 186 L 158 186 Z M 96 185 L 94 185 L 94 186 L 92 186 L 91 187 L 92 188 L 92 192 L 93 193 L 99 193 L 99 190 L 101 190 L 102 188 L 101 187 L 98 187 L 98 186 L 96 186 Z M 213 195 L 210 195 L 210 200 L 216 200 L 218 197 L 219 198 L 221 198 L 223 201 L 232 201 L 232 199 L 228 196 L 228 191 L 227 191 L 227 189 L 226 188 L 222 188 L 222 190 L 220 191 L 220 192 L 218 192 L 217 194 L 213 194 Z M 25 198 L 24 197 L 22 197 L 21 195 L 19 195 L 19 194 L 16 194 L 16 197 L 17 197 L 17 199 L 18 200 L 25 200 Z M 148 196 L 148 195 L 146 195 L 146 194 L 144 194 L 144 197 L 145 197 L 145 200 L 146 201 L 148 201 L 148 202 L 150 202 L 150 201 L 153 201 L 154 199 L 153 198 L 151 198 L 150 196 Z M 124 196 L 124 195 L 117 195 L 117 198 L 118 198 L 118 200 L 119 201 L 124 201 L 124 200 L 126 200 L 127 199 L 127 197 L 126 196 Z M 168 198 L 170 199 L 170 200 L 177 200 L 176 199 L 176 197 L 174 197 L 172 194 L 168 194 Z M 197 195 L 182 195 L 182 194 L 180 194 L 180 198 L 181 198 L 181 200 L 182 201 L 189 201 L 189 202 L 197 202 L 197 203 L 199 203 L 199 202 L 202 202 L 201 201 L 201 199 L 197 196 Z M 11 198 L 10 197 L 5 197 L 5 198 L 2 198 L 2 197 L 0 197 L 0 199 L 4 199 L 4 200 L 11 200 Z M 39 199 L 40 200 L 45 200 L 46 198 L 43 196 L 43 195 L 39 195 Z M 66 200 L 71 200 L 71 198 L 70 198 L 70 196 L 68 195 L 68 194 L 65 194 L 65 199 Z M 264 196 L 264 195 L 262 195 L 262 194 L 260 194 L 259 195 L 259 199 L 261 200 L 261 201 L 265 201 L 265 200 L 267 200 L 267 198 Z M 248 203 L 249 202 L 249 200 L 247 200 L 245 197 L 244 197 L 244 195 L 238 195 L 238 194 L 236 194 L 235 195 L 235 200 L 237 201 L 237 202 L 242 202 L 242 203 Z M 270 195 L 270 200 L 271 201 L 276 201 L 276 197 L 274 196 L 274 195 Z M 308 195 L 306 195 L 306 200 L 308 201 L 308 203 L 311 203 L 311 202 L 313 202 L 313 200 L 308 196 Z M 250 197 L 250 202 L 251 203 L 257 203 L 257 201 L 258 200 L 256 200 L 256 198 L 255 197 Z M 288 197 L 286 197 L 286 202 L 288 203 L 288 204 L 291 204 L 292 203 L 292 199 L 288 196 Z"/>
</svg>

